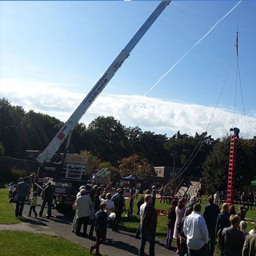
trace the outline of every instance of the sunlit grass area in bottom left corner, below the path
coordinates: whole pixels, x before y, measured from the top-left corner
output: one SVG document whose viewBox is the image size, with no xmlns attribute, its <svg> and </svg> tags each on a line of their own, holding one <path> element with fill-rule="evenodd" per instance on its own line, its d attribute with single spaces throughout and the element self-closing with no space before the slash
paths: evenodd
<svg viewBox="0 0 256 256">
<path fill-rule="evenodd" d="M 1 256 L 89 256 L 89 249 L 60 237 L 0 231 Z"/>
</svg>

